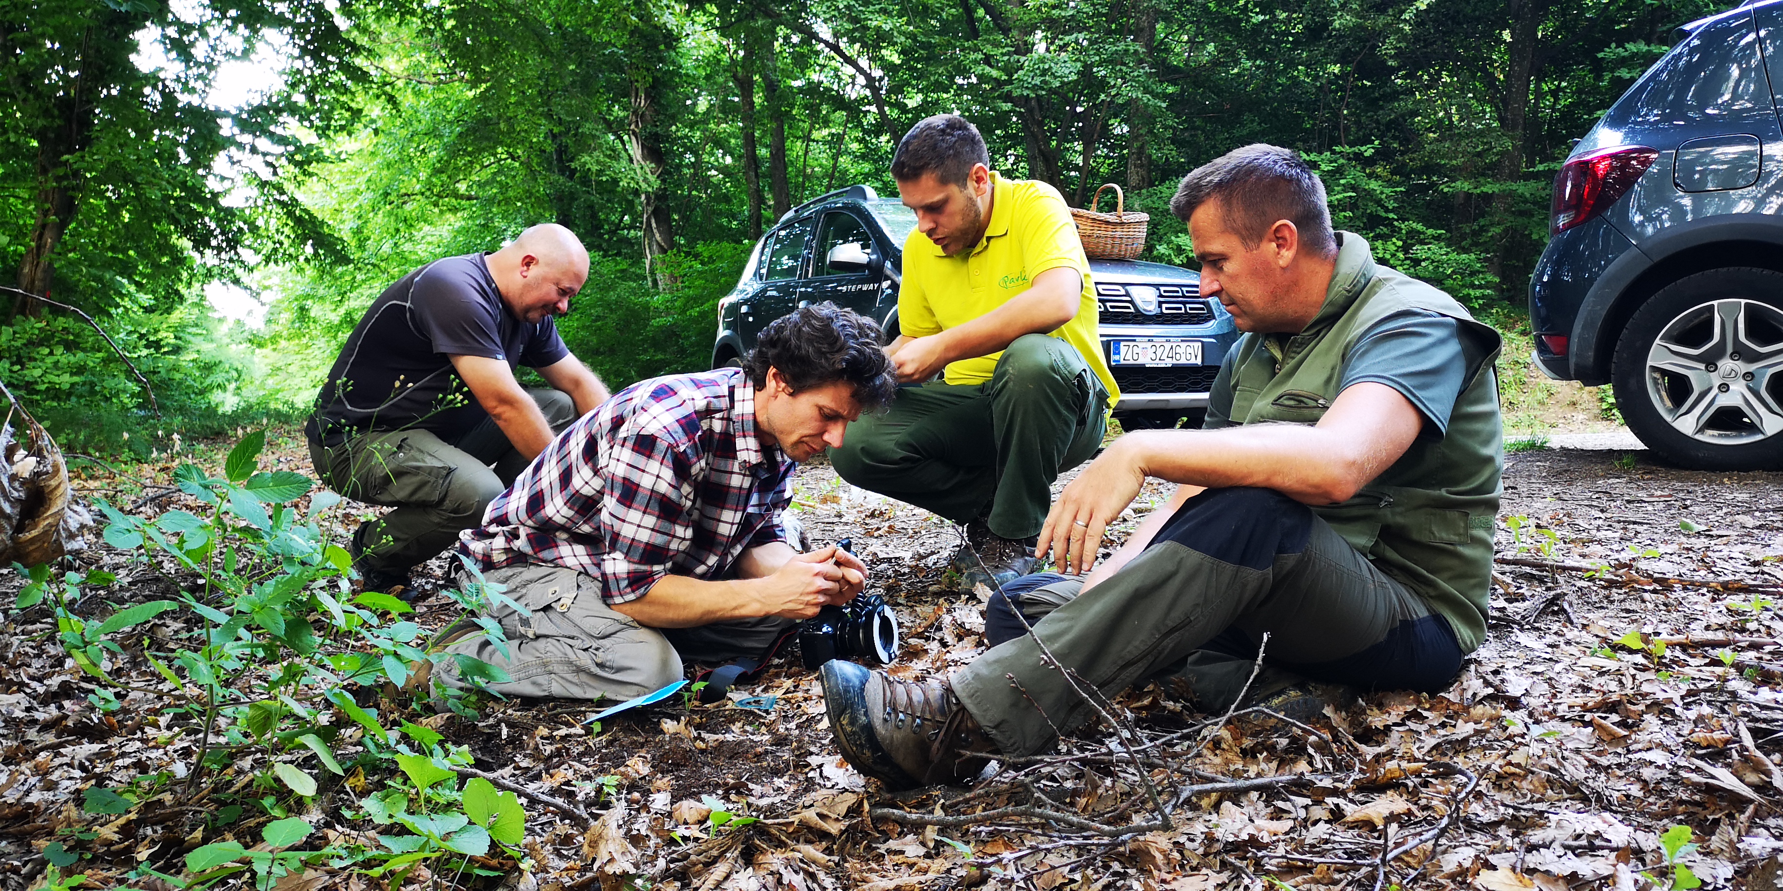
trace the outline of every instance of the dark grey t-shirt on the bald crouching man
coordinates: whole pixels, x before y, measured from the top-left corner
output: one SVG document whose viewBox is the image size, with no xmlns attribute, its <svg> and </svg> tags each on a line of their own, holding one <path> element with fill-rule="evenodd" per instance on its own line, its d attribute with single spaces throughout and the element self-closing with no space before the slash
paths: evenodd
<svg viewBox="0 0 1783 891">
<path fill-rule="evenodd" d="M 556 321 L 522 323 L 480 253 L 435 260 L 387 287 L 348 335 L 303 433 L 339 446 L 353 433 L 430 429 L 451 442 L 489 412 L 448 356 L 542 369 L 569 355 Z"/>
</svg>

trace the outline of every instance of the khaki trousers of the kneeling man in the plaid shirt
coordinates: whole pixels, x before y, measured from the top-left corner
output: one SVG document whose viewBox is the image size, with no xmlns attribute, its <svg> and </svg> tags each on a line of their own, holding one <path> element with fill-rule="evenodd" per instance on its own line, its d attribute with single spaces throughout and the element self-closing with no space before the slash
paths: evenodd
<svg viewBox="0 0 1783 891">
<path fill-rule="evenodd" d="M 761 656 L 793 625 L 790 618 L 768 617 L 701 627 L 644 627 L 606 606 L 597 579 L 563 567 L 503 567 L 487 572 L 483 581 L 503 584 L 508 599 L 531 615 L 496 608 L 490 615 L 508 636 L 506 656 L 476 634 L 435 656 L 435 672 L 448 684 L 465 688 L 453 656 L 483 659 L 508 672 L 508 681 L 489 684 L 506 697 L 642 697 L 679 681 L 683 661 L 719 665 Z"/>
</svg>

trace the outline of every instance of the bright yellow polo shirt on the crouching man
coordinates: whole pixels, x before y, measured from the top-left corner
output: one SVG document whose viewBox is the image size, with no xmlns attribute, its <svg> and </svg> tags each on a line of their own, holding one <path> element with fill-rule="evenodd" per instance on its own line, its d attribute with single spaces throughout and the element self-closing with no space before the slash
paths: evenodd
<svg viewBox="0 0 1783 891">
<path fill-rule="evenodd" d="M 1084 278 L 1077 315 L 1048 333 L 1077 347 L 1097 378 L 1102 378 L 1113 406 L 1120 401 L 1120 387 L 1114 385 L 1097 339 L 1097 290 L 1089 282 L 1089 258 L 1084 257 L 1084 244 L 1077 239 L 1077 225 L 1072 223 L 1064 198 L 1043 182 L 1006 180 L 995 171 L 991 194 L 991 221 L 972 253 L 947 257 L 922 232 L 911 232 L 904 239 L 899 330 L 909 337 L 941 333 L 1002 307 L 1047 269 L 1077 269 Z M 1002 353 L 952 362 L 945 380 L 988 383 L 998 356 Z"/>
</svg>

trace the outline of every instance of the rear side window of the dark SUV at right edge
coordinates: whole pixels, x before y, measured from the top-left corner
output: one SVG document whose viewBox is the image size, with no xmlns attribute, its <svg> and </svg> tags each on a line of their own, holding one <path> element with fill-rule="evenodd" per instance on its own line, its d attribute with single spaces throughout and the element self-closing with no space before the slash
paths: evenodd
<svg viewBox="0 0 1783 891">
<path fill-rule="evenodd" d="M 1771 112 L 1751 14 L 1712 21 L 1660 59 L 1603 118 L 1605 127 L 1708 123 Z"/>
</svg>

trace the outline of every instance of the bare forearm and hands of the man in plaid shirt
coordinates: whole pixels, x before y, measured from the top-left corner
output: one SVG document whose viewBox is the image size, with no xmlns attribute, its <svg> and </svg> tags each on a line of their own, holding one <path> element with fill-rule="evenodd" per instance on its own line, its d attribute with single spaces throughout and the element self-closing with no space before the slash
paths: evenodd
<svg viewBox="0 0 1783 891">
<path fill-rule="evenodd" d="M 760 572 L 760 576 L 749 576 Z M 752 547 L 738 561 L 740 579 L 663 576 L 631 602 L 613 604 L 645 627 L 695 627 L 738 618 L 811 618 L 824 604 L 845 604 L 867 584 L 854 554 L 824 547 L 799 554 L 786 544 Z"/>
</svg>

